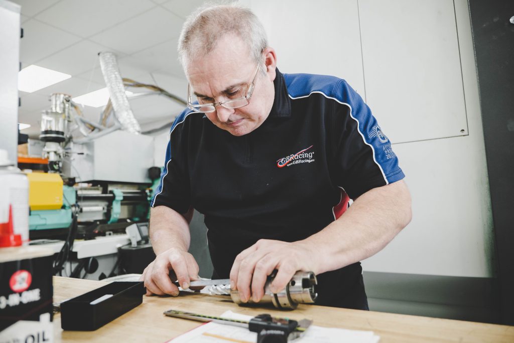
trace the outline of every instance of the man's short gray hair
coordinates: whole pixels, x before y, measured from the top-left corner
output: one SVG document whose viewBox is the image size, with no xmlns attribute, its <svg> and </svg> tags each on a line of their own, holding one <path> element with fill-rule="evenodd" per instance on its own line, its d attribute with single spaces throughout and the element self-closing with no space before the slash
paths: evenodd
<svg viewBox="0 0 514 343">
<path fill-rule="evenodd" d="M 184 70 L 190 61 L 205 56 L 227 33 L 235 33 L 247 44 L 256 63 L 268 46 L 266 31 L 251 10 L 237 3 L 204 5 L 188 16 L 178 40 L 178 58 Z"/>
</svg>

